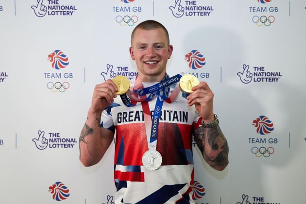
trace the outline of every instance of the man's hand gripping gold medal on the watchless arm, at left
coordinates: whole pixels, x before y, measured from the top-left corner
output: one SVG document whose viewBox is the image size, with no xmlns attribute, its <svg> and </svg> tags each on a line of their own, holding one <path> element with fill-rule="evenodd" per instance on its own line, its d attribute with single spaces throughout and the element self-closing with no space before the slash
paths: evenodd
<svg viewBox="0 0 306 204">
<path fill-rule="evenodd" d="M 118 87 L 112 80 L 96 85 L 94 88 L 90 111 L 93 113 L 101 113 L 104 108 L 114 102 L 117 97 L 116 91 Z"/>
</svg>

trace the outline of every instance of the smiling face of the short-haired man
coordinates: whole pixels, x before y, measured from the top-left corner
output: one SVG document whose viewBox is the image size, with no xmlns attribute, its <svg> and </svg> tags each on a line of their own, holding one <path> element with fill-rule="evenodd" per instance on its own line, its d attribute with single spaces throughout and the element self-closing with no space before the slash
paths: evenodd
<svg viewBox="0 0 306 204">
<path fill-rule="evenodd" d="M 130 54 L 135 60 L 142 82 L 159 82 L 166 73 L 166 65 L 173 47 L 168 45 L 165 31 L 137 29 L 132 39 Z"/>
</svg>

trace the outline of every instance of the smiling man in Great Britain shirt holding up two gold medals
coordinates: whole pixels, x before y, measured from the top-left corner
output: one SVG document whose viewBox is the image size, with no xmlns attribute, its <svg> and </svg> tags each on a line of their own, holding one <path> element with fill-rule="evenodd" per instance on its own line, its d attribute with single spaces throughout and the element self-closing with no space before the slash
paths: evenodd
<svg viewBox="0 0 306 204">
<path fill-rule="evenodd" d="M 116 129 L 116 204 L 194 203 L 192 133 L 212 168 L 223 170 L 228 164 L 227 141 L 205 82 L 194 86 L 187 97 L 173 85 L 140 94 L 139 89 L 169 79 L 166 65 L 172 51 L 166 28 L 157 21 L 144 21 L 131 36 L 130 55 L 138 76 L 130 88 L 129 107 L 117 97 L 112 80 L 94 88 L 79 140 L 80 160 L 84 166 L 97 164 Z"/>
</svg>

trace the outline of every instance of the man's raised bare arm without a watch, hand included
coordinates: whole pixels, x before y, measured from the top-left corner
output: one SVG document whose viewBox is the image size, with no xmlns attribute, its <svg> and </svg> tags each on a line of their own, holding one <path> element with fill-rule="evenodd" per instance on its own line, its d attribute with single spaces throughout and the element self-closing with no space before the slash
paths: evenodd
<svg viewBox="0 0 306 204">
<path fill-rule="evenodd" d="M 114 102 L 117 86 L 111 80 L 96 85 L 87 120 L 79 138 L 80 161 L 86 167 L 97 164 L 110 146 L 114 132 L 100 127 L 101 113 Z"/>
</svg>

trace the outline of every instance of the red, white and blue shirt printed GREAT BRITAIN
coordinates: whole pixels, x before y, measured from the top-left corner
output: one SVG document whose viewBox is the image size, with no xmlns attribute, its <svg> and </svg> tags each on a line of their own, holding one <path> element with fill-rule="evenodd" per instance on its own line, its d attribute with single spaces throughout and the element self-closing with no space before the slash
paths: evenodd
<svg viewBox="0 0 306 204">
<path fill-rule="evenodd" d="M 156 98 L 147 103 L 151 115 Z M 164 102 L 161 111 L 156 151 L 162 155 L 162 164 L 157 170 L 142 164 L 148 141 L 141 102 L 126 107 L 117 97 L 102 112 L 101 127 L 116 132 L 116 204 L 194 203 L 192 129 L 201 125 L 202 118 L 194 106 L 188 107 L 182 93 L 174 102 Z"/>
</svg>

